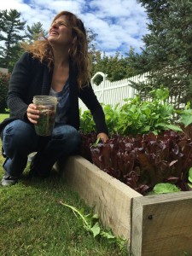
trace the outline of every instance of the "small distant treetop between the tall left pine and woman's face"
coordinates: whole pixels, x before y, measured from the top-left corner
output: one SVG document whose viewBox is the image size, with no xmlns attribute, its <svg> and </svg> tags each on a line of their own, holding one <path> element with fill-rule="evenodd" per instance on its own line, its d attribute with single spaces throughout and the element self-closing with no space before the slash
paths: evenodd
<svg viewBox="0 0 192 256">
<path fill-rule="evenodd" d="M 46 32 L 43 28 L 43 24 L 41 22 L 33 23 L 32 26 L 26 26 L 26 38 L 31 44 L 33 41 L 38 40 L 39 36 L 46 37 L 48 32 Z"/>
</svg>

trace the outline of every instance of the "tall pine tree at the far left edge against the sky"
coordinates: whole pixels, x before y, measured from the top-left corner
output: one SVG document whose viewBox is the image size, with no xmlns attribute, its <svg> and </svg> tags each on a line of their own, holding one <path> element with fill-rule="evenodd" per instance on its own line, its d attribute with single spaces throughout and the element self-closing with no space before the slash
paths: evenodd
<svg viewBox="0 0 192 256">
<path fill-rule="evenodd" d="M 20 42 L 26 36 L 20 35 L 24 30 L 25 21 L 20 21 L 20 13 L 16 9 L 0 11 L 0 67 L 14 67 L 15 61 L 20 56 Z"/>
</svg>

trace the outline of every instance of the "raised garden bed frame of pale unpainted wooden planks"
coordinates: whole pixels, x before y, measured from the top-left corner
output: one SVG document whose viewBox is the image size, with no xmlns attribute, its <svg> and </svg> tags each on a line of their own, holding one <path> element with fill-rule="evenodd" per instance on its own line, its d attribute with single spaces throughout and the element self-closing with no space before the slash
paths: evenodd
<svg viewBox="0 0 192 256">
<path fill-rule="evenodd" d="M 192 255 L 192 191 L 143 196 L 80 156 L 56 166 L 134 256 Z"/>
</svg>

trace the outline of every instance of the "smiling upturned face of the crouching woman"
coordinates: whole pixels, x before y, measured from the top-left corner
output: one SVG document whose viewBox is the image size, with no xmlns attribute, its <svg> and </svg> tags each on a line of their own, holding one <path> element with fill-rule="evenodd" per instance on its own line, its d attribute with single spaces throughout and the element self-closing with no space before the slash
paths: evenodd
<svg viewBox="0 0 192 256">
<path fill-rule="evenodd" d="M 66 15 L 61 15 L 53 21 L 49 28 L 49 42 L 51 44 L 70 46 L 72 43 L 72 32 L 67 27 Z"/>
</svg>

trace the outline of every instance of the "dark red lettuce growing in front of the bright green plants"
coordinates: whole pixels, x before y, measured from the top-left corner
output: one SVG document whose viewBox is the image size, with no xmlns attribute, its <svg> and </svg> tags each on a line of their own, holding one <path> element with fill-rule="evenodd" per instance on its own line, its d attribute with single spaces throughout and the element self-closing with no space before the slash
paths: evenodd
<svg viewBox="0 0 192 256">
<path fill-rule="evenodd" d="M 174 183 L 188 190 L 192 167 L 192 142 L 183 133 L 164 131 L 137 137 L 113 135 L 107 143 L 96 142 L 96 134 L 83 135 L 82 155 L 104 172 L 145 194 L 157 183 Z"/>
</svg>

